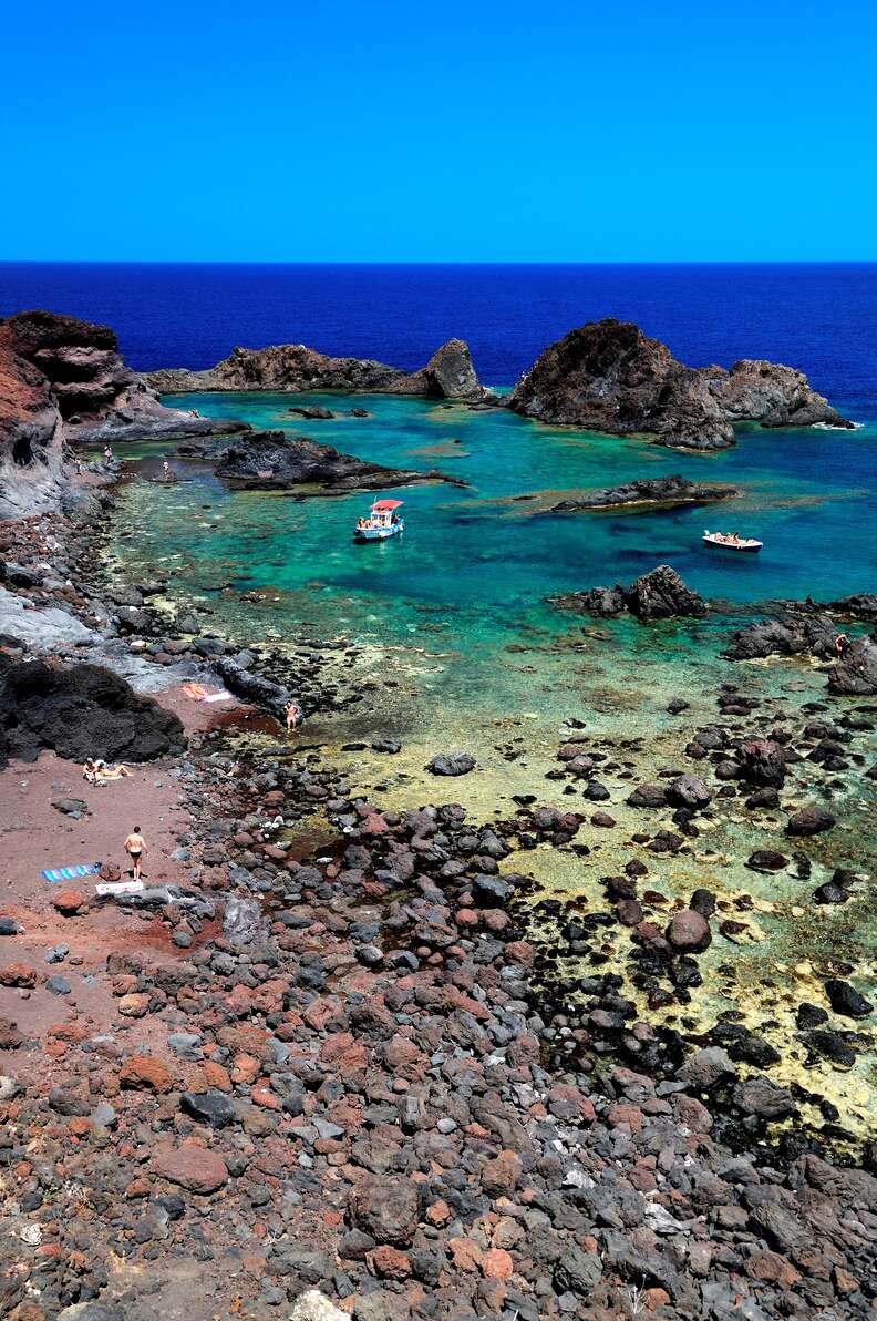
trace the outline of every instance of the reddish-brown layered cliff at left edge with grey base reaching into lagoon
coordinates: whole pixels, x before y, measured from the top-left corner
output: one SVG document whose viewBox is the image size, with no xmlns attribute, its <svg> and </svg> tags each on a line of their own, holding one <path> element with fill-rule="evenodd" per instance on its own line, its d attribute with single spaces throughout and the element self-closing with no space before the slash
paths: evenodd
<svg viewBox="0 0 877 1321">
<path fill-rule="evenodd" d="M 67 444 L 240 431 L 164 408 L 108 326 L 52 312 L 0 321 L 0 518 L 52 509 Z"/>
</svg>

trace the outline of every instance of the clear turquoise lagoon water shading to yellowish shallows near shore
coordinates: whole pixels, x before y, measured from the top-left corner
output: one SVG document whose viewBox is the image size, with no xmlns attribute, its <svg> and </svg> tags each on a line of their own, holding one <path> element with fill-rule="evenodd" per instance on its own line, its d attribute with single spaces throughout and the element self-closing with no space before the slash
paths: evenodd
<svg viewBox="0 0 877 1321">
<path fill-rule="evenodd" d="M 378 790 L 384 802 L 435 799 L 437 786 L 424 774 L 424 762 L 438 750 L 465 746 L 477 756 L 477 771 L 440 787 L 482 819 L 514 811 L 512 795 L 522 793 L 590 812 L 581 798 L 564 794 L 563 781 L 545 779 L 556 766 L 559 742 L 571 732 L 565 721 L 582 721 L 586 736 L 596 746 L 604 744 L 614 762 L 601 779 L 610 789 L 612 803 L 605 806 L 618 827 L 589 830 L 582 838 L 592 855 L 585 859 L 535 851 L 512 860 L 548 893 L 602 905 L 600 877 L 631 856 L 630 835 L 645 824 L 623 803 L 630 777 L 687 769 L 687 731 L 717 717 L 720 683 L 737 683 L 766 699 L 771 719 L 808 699 L 827 700 L 824 674 L 806 663 L 721 660 L 729 630 L 750 618 L 758 602 L 807 594 L 832 600 L 877 583 L 874 424 L 855 432 L 749 428 L 734 449 L 703 457 L 641 440 L 552 429 L 503 411 L 387 396 L 190 395 L 168 402 L 291 435 L 306 432 L 391 466 L 437 468 L 468 483 L 399 490 L 404 536 L 355 546 L 351 530 L 370 503 L 367 495 L 297 499 L 293 493 L 230 491 L 203 466 L 174 461 L 180 476 L 192 481 L 168 487 L 133 481 L 124 487 L 116 524 L 124 535 L 114 538 L 110 553 L 125 575 L 169 572 L 168 604 L 194 602 L 213 612 L 205 629 L 240 643 L 285 642 L 292 650 L 302 638 L 346 643 L 329 655 L 359 687 L 362 701 L 314 713 L 305 736 L 346 766 L 355 787 Z M 288 416 L 298 402 L 338 413 L 355 403 L 371 416 L 305 423 Z M 131 456 L 149 466 L 158 450 L 137 446 Z M 740 495 L 701 510 L 544 513 L 568 494 L 676 472 L 732 483 Z M 704 526 L 755 535 L 765 550 L 752 557 L 711 551 L 700 542 Z M 552 593 L 630 581 L 662 561 L 725 604 L 700 624 L 643 627 L 588 621 L 545 602 Z M 666 712 L 672 695 L 692 704 L 684 727 Z M 376 736 L 400 738 L 403 753 L 339 752 L 345 741 Z M 802 778 L 799 801 L 819 801 L 824 777 L 808 779 L 804 765 Z M 868 991 L 873 890 L 862 884 L 856 900 L 839 910 L 815 909 L 810 900 L 835 865 L 873 872 L 874 804 L 861 786 L 857 773 L 831 790 L 840 824 L 807 841 L 810 882 L 748 871 L 744 863 L 753 848 L 777 847 L 785 816 L 752 819 L 733 806 L 719 820 L 704 822 L 689 855 L 654 865 L 654 878 L 671 896 L 707 884 L 722 897 L 728 915 L 741 915 L 734 906 L 741 893 L 757 905 L 742 914 L 748 931 L 738 948 L 717 939 L 703 956 L 709 993 L 700 996 L 697 1011 L 671 1009 L 668 1021 L 691 1029 L 699 1013 L 705 1022 L 733 1007 L 763 1028 L 770 1012 L 770 1030 L 786 1049 L 795 1004 L 820 1003 L 815 978 L 837 959 L 853 967 L 856 984 Z M 650 816 L 647 826 L 655 824 Z M 610 933 L 609 948 L 621 951 L 627 939 L 626 933 Z M 789 1077 L 796 1075 L 802 1058 L 803 1052 L 787 1057 Z M 827 1066 L 820 1071 L 823 1094 L 841 1106 L 853 1128 L 868 1124 L 869 1062 L 865 1054 L 849 1074 Z"/>
</svg>

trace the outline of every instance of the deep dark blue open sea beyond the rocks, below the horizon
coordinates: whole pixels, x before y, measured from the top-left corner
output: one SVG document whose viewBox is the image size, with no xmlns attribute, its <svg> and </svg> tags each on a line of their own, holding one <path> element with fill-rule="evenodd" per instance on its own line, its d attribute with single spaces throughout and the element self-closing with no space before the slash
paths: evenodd
<svg viewBox="0 0 877 1321">
<path fill-rule="evenodd" d="M 0 264 L 0 314 L 36 306 L 108 322 L 140 370 L 284 342 L 411 369 L 460 336 L 493 386 L 572 326 L 617 316 L 692 366 L 787 362 L 841 407 L 877 415 L 877 263 Z"/>
</svg>

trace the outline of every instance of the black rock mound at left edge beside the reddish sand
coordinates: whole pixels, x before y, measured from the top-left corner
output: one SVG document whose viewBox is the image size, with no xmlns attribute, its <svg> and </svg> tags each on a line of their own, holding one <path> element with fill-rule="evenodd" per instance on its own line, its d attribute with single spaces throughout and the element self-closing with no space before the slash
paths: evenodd
<svg viewBox="0 0 877 1321">
<path fill-rule="evenodd" d="M 100 666 L 48 666 L 0 654 L 0 766 L 53 748 L 69 761 L 152 761 L 184 746 L 173 712 Z"/>
</svg>

